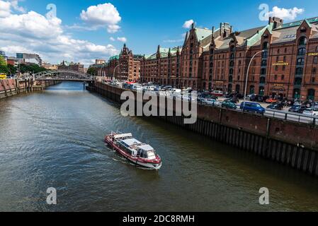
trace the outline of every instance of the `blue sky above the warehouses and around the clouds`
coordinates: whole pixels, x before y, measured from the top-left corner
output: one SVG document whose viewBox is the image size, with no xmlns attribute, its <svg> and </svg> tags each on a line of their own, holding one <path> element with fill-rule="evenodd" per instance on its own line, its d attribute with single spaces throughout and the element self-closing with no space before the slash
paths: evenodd
<svg viewBox="0 0 318 226">
<path fill-rule="evenodd" d="M 0 0 L 11 1 L 14 0 Z M 1 3 L 1 2 L 0 2 Z M 114 25 L 120 26 L 116 32 L 108 32 L 106 25 L 103 26 L 101 21 L 97 25 L 93 20 L 84 20 L 80 14 L 81 11 L 86 11 L 90 6 L 97 6 L 98 4 L 112 4 L 118 11 L 120 20 L 111 22 Z M 273 11 L 273 7 L 277 6 L 280 11 L 276 13 L 283 13 L 285 21 L 300 20 L 303 18 L 311 18 L 318 16 L 317 0 L 285 0 L 285 1 L 178 1 L 178 0 L 115 0 L 115 1 L 93 1 L 93 0 L 24 0 L 18 1 L 18 6 L 22 6 L 24 11 L 12 10 L 11 14 L 15 13 L 21 15 L 29 11 L 35 11 L 40 15 L 47 13 L 47 4 L 55 4 L 57 6 L 57 18 L 60 24 L 58 28 L 62 29 L 63 35 L 74 40 L 85 40 L 90 44 L 95 44 L 98 47 L 108 46 L 107 50 L 99 48 L 97 51 L 93 47 L 92 54 L 84 54 L 81 50 L 81 57 L 76 57 L 76 52 L 72 54 L 45 54 L 45 47 L 35 48 L 40 54 L 51 59 L 45 59 L 57 63 L 62 58 L 68 57 L 69 60 L 85 61 L 89 64 L 89 57 L 98 57 L 107 59 L 115 50 L 119 50 L 123 46 L 123 40 L 127 40 L 127 46 L 136 54 L 151 54 L 156 51 L 157 45 L 161 44 L 163 47 L 173 47 L 182 45 L 183 35 L 188 30 L 183 28 L 186 20 L 194 20 L 198 27 L 212 28 L 212 25 L 218 27 L 221 22 L 229 22 L 234 26 L 234 30 L 244 30 L 260 25 L 266 25 L 266 21 L 259 20 L 260 4 L 268 4 L 269 11 Z M 297 7 L 296 11 L 289 11 L 288 15 L 284 14 L 283 8 L 292 10 Z M 299 11 L 304 10 L 304 11 Z M 293 14 L 294 13 L 294 14 Z M 1 12 L 0 12 L 1 18 Z M 92 22 L 93 21 L 93 22 Z M 1 21 L 0 21 L 1 22 Z M 96 25 L 96 28 L 94 27 Z M 55 28 L 55 27 L 53 27 Z M 91 29 L 93 28 L 93 29 Z M 1 28 L 0 28 L 1 31 Z M 113 37 L 115 41 L 110 40 Z M 117 40 L 118 37 L 125 37 L 122 41 Z M 0 38 L 1 39 L 1 38 Z M 35 37 L 36 39 L 36 37 Z M 8 40 L 1 42 L 0 49 L 4 48 L 7 52 L 11 52 L 10 48 L 3 45 L 8 44 Z M 36 44 L 37 42 L 35 42 Z M 50 43 L 54 43 L 50 40 Z M 14 48 L 11 48 L 14 49 Z M 53 48 L 51 48 L 52 50 Z M 111 49 L 111 51 L 109 51 Z M 22 50 L 22 49 L 21 49 Z M 33 50 L 28 46 L 25 50 Z M 50 49 L 47 49 L 50 51 Z M 52 52 L 59 52 L 58 49 L 53 49 Z M 60 57 L 58 57 L 60 56 Z"/>
</svg>

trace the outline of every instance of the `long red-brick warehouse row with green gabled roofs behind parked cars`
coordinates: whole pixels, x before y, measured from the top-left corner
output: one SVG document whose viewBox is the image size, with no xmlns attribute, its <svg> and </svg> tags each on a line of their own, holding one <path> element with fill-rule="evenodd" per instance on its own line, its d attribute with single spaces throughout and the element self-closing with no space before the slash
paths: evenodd
<svg viewBox="0 0 318 226">
<path fill-rule="evenodd" d="M 192 28 L 182 47 L 162 48 L 141 60 L 140 80 L 178 88 L 244 93 L 251 58 L 248 93 L 280 95 L 288 99 L 318 100 L 318 18 L 233 32 L 220 28 Z"/>
</svg>

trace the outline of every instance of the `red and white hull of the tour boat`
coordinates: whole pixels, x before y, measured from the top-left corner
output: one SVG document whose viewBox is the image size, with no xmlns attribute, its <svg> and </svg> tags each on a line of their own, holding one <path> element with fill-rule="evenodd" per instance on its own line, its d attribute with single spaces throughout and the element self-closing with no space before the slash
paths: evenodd
<svg viewBox="0 0 318 226">
<path fill-rule="evenodd" d="M 110 146 L 110 148 L 113 148 L 118 154 L 122 155 L 123 157 L 125 157 L 127 160 L 129 160 L 130 162 L 132 162 L 136 166 L 145 167 L 147 169 L 157 169 L 157 170 L 160 169 L 162 166 L 161 160 L 160 161 L 156 161 L 156 160 L 151 161 L 151 160 L 145 160 L 145 159 L 140 158 L 140 157 L 134 157 L 132 155 L 129 155 L 124 150 L 122 150 L 117 145 L 115 145 L 115 143 L 113 143 L 110 136 L 105 137 L 105 143 L 108 146 Z"/>
</svg>

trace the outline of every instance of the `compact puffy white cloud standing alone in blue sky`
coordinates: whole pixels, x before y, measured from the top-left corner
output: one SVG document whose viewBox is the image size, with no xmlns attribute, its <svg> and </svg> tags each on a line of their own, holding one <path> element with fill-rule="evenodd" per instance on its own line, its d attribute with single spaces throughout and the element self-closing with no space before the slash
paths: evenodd
<svg viewBox="0 0 318 226">
<path fill-rule="evenodd" d="M 110 33 L 118 32 L 121 17 L 120 14 L 113 6 L 113 4 L 98 4 L 97 6 L 89 6 L 86 11 L 81 11 L 81 20 L 85 23 L 92 25 L 93 28 L 107 27 Z"/>
</svg>

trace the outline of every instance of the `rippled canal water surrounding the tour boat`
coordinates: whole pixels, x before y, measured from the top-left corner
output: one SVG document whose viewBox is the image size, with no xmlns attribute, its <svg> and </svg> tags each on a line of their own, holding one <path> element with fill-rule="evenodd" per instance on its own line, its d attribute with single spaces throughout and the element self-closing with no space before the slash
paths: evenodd
<svg viewBox="0 0 318 226">
<path fill-rule="evenodd" d="M 317 178 L 157 119 L 122 117 L 81 83 L 0 100 L 0 129 L 1 211 L 318 210 Z M 159 172 L 107 148 L 103 136 L 117 130 L 154 146 Z"/>
</svg>

